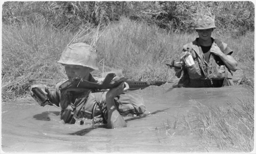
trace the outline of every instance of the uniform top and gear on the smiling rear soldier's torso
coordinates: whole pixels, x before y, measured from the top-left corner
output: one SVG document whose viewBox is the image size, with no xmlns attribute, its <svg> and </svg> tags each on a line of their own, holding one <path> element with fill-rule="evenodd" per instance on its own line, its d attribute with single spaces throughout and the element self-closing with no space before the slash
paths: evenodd
<svg viewBox="0 0 256 154">
<path fill-rule="evenodd" d="M 218 39 L 211 39 L 212 45 L 217 45 L 224 54 L 232 54 L 233 51 L 226 43 Z M 183 52 L 190 52 L 195 64 L 185 66 L 186 69 L 178 85 L 195 88 L 234 85 L 232 82 L 232 72 L 222 62 L 220 57 L 210 53 L 210 47 L 200 46 L 198 38 L 183 46 Z M 176 73 L 176 76 L 180 76 L 180 73 Z"/>
</svg>

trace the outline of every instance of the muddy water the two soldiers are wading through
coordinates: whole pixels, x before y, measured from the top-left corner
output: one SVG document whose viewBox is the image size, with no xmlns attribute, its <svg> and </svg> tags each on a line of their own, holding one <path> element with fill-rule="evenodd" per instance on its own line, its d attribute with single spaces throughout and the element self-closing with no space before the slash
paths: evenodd
<svg viewBox="0 0 256 154">
<path fill-rule="evenodd" d="M 2 103 L 2 150 L 4 152 L 205 152 L 199 137 L 167 132 L 163 127 L 175 116 L 194 113 L 200 105 L 226 106 L 248 92 L 242 87 L 169 88 L 142 90 L 147 112 L 125 117 L 127 128 L 106 129 L 103 125 L 64 124 L 60 110 L 40 107 L 32 98 Z M 214 151 L 212 151 L 214 152 Z"/>
</svg>

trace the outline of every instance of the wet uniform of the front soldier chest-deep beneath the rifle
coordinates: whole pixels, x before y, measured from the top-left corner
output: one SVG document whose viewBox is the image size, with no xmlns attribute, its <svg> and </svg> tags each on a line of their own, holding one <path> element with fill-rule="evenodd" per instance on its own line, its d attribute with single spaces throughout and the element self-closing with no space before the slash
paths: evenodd
<svg viewBox="0 0 256 154">
<path fill-rule="evenodd" d="M 90 74 L 90 82 L 97 82 Z M 59 86 L 51 92 L 50 100 L 62 108 L 61 118 L 65 123 L 74 124 L 76 118 L 93 119 L 94 123 L 106 123 L 108 112 L 106 108 L 106 92 L 92 93 L 90 91 L 63 91 Z M 114 98 L 121 115 L 143 114 L 146 110 L 141 90 L 128 90 Z"/>
</svg>

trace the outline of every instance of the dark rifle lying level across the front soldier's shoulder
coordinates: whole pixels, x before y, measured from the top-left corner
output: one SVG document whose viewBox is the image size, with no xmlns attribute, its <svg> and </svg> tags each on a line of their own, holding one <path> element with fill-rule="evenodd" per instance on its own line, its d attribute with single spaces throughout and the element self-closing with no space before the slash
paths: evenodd
<svg viewBox="0 0 256 154">
<path fill-rule="evenodd" d="M 120 85 L 122 82 L 126 82 L 129 85 L 129 90 L 137 90 L 143 89 L 148 86 L 161 86 L 165 84 L 165 81 L 150 81 L 150 82 L 143 82 L 143 81 L 132 81 L 128 80 L 128 78 L 120 77 L 112 80 L 116 74 L 109 73 L 103 80 L 103 82 L 95 83 L 89 82 L 87 80 L 83 80 L 82 78 L 76 77 L 70 80 L 67 80 L 63 84 L 60 85 L 60 91 L 68 90 L 91 90 L 91 92 L 103 92 L 107 91 L 108 89 L 112 89 Z"/>
</svg>

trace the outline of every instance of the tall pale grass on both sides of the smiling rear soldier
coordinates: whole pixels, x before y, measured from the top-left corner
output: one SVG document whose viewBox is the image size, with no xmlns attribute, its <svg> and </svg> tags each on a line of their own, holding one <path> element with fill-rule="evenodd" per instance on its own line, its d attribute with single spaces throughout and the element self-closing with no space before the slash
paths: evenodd
<svg viewBox="0 0 256 154">
<path fill-rule="evenodd" d="M 254 32 L 245 36 L 223 34 L 214 30 L 212 35 L 234 51 L 232 56 L 238 61 L 242 73 L 236 74 L 235 82 L 254 84 Z M 168 33 L 146 22 L 130 22 L 122 18 L 104 32 L 98 42 L 100 59 L 112 68 L 123 69 L 124 73 L 135 80 L 173 80 L 173 70 L 167 72 L 165 66 L 170 60 L 178 60 L 182 45 L 193 41 L 197 33 Z M 242 41 L 241 41 L 242 40 Z M 167 73 L 166 73 L 167 72 Z M 167 75 L 167 78 L 165 78 Z M 174 77 L 174 78 L 173 78 Z"/>
</svg>

